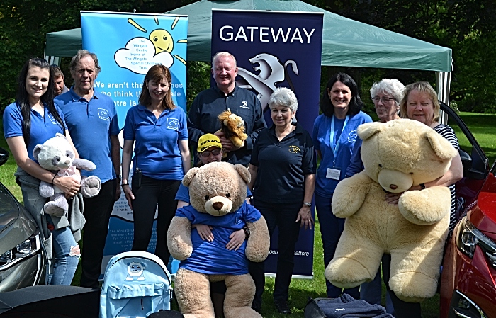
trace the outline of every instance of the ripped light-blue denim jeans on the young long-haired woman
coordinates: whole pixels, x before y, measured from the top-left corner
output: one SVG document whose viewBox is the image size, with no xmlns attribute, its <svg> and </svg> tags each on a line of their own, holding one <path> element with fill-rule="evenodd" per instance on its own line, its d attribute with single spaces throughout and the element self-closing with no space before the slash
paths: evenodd
<svg viewBox="0 0 496 318">
<path fill-rule="evenodd" d="M 52 232 L 52 247 L 55 256 L 50 285 L 71 285 L 81 253 L 69 227 L 55 229 L 52 219 L 47 216 L 48 229 Z M 77 251 L 74 251 L 77 249 Z"/>
</svg>

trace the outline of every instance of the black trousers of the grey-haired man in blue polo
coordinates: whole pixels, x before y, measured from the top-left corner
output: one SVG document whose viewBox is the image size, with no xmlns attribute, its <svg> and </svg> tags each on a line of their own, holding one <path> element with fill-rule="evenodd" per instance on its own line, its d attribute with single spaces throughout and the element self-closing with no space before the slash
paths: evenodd
<svg viewBox="0 0 496 318">
<path fill-rule="evenodd" d="M 115 203 L 115 189 L 117 179 L 106 181 L 101 185 L 98 195 L 93 198 L 84 198 L 84 225 L 83 250 L 81 251 L 81 287 L 100 288 L 98 278 L 101 272 L 103 247 L 108 232 L 113 203 Z"/>
</svg>

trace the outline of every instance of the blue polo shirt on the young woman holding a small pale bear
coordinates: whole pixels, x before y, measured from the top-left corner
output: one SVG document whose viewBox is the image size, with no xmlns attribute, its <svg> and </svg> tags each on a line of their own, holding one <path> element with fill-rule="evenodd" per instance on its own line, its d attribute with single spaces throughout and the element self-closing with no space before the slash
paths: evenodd
<svg viewBox="0 0 496 318">
<path fill-rule="evenodd" d="M 62 118 L 62 122 L 64 122 L 64 114 L 60 111 L 60 108 L 55 106 L 55 109 L 59 113 L 60 118 Z M 57 123 L 57 120 L 55 120 L 46 106 L 44 116 L 31 109 L 30 117 L 30 140 L 26 148 L 28 149 L 28 157 L 31 160 L 38 162 L 35 160 L 35 157 L 33 157 L 33 149 L 35 149 L 36 145 L 43 144 L 43 142 L 55 137 L 57 132 L 64 134 L 64 130 L 66 130 L 67 127 L 60 127 L 60 124 Z M 6 139 L 9 137 L 23 136 L 23 116 L 21 114 L 21 108 L 17 103 L 11 103 L 4 110 L 4 136 Z"/>
</svg>

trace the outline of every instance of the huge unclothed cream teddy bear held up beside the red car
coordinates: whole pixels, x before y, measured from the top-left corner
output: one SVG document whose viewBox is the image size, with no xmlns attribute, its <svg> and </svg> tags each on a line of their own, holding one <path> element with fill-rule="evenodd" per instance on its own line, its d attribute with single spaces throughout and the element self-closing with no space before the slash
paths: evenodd
<svg viewBox="0 0 496 318">
<path fill-rule="evenodd" d="M 400 299 L 432 297 L 451 194 L 445 186 L 407 190 L 443 176 L 456 149 L 415 120 L 366 123 L 358 135 L 365 170 L 340 181 L 334 191 L 332 211 L 346 222 L 325 277 L 342 288 L 358 286 L 373 280 L 385 253 L 391 255 L 389 285 Z M 385 202 L 386 192 L 402 193 L 398 205 Z"/>
</svg>

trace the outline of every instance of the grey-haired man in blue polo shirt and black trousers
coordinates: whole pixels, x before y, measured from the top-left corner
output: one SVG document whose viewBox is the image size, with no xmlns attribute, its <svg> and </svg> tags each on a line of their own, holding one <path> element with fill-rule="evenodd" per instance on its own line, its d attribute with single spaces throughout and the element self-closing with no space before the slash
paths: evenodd
<svg viewBox="0 0 496 318">
<path fill-rule="evenodd" d="M 94 89 L 100 72 L 98 58 L 79 50 L 69 64 L 74 86 L 55 98 L 64 113 L 65 123 L 81 158 L 96 164 L 94 175 L 101 179 L 101 191 L 94 198 L 84 198 L 84 225 L 81 287 L 99 288 L 103 247 L 113 203 L 120 196 L 120 145 L 117 112 L 112 99 Z"/>
</svg>

